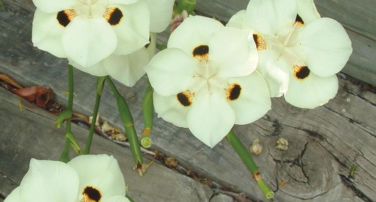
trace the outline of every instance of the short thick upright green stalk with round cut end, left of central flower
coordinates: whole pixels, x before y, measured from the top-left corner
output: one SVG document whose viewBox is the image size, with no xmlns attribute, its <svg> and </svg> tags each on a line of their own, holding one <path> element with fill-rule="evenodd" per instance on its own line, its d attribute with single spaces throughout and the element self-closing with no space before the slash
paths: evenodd
<svg viewBox="0 0 376 202">
<path fill-rule="evenodd" d="M 145 148 L 149 148 L 152 144 L 149 136 L 154 120 L 153 88 L 151 87 L 149 80 L 147 80 L 147 88 L 142 102 L 142 113 L 144 130 L 141 135 L 141 145 Z"/>
</svg>

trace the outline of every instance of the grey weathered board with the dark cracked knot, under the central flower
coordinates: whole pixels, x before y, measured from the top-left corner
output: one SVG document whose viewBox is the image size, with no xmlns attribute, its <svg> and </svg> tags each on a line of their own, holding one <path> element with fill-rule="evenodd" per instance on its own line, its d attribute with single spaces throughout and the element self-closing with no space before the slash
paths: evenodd
<svg viewBox="0 0 376 202">
<path fill-rule="evenodd" d="M 57 93 L 56 99 L 65 104 L 67 62 L 32 47 L 33 6 L 18 1 L 6 0 L 7 12 L 0 12 L 0 28 L 6 34 L 2 33 L 6 40 L 0 40 L 0 72 L 27 86 L 51 87 Z M 94 84 L 92 76 L 75 71 L 76 111 L 90 115 Z M 145 78 L 132 88 L 118 85 L 128 100 L 137 131 L 142 130 L 141 100 L 145 85 Z M 261 155 L 254 159 L 269 184 L 276 186 L 277 168 L 279 180 L 288 182 L 276 193 L 276 201 L 375 201 L 376 96 L 373 93 L 340 79 L 339 94 L 326 106 L 301 110 L 278 98 L 273 99 L 272 107 L 262 119 L 236 126 L 235 130 L 247 145 L 255 138 L 264 145 Z M 122 127 L 115 99 L 108 88 L 104 90 L 99 111 L 102 119 Z M 289 150 L 274 148 L 279 137 L 289 139 Z M 264 201 L 247 169 L 226 141 L 210 149 L 189 130 L 162 119 L 155 119 L 152 138 L 153 148 L 175 157 L 184 167 L 223 185 L 235 185 L 250 198 Z M 352 165 L 357 170 L 355 176 L 349 178 Z"/>
</svg>

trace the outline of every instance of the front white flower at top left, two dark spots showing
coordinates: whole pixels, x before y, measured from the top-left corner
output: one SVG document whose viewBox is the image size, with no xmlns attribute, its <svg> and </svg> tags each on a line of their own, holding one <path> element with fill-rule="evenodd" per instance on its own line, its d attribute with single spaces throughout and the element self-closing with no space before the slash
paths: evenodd
<svg viewBox="0 0 376 202">
<path fill-rule="evenodd" d="M 91 67 L 149 42 L 146 0 L 33 0 L 32 41 L 57 57 Z"/>
</svg>

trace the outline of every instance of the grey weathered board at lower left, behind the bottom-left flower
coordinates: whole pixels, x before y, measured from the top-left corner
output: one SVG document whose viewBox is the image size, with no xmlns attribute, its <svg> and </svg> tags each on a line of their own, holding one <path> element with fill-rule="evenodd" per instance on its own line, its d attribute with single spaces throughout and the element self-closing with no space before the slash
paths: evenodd
<svg viewBox="0 0 376 202">
<path fill-rule="evenodd" d="M 31 158 L 59 160 L 64 148 L 64 128 L 57 129 L 52 124 L 56 116 L 26 100 L 20 112 L 17 100 L 16 95 L 0 88 L 0 195 L 3 196 L 19 186 Z M 88 130 L 75 124 L 72 129 L 84 145 Z M 99 136 L 94 137 L 91 151 L 113 155 L 118 160 L 129 185 L 128 194 L 136 201 L 208 202 L 213 194 L 210 187 L 157 163 L 139 177 L 132 170 L 134 161 L 130 150 Z"/>
</svg>

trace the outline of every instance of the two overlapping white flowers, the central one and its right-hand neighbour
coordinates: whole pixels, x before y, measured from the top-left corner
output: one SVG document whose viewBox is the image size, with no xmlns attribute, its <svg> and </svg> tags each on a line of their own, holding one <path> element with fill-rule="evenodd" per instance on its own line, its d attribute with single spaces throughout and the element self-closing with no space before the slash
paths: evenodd
<svg viewBox="0 0 376 202">
<path fill-rule="evenodd" d="M 309 109 L 328 103 L 351 53 L 345 29 L 321 18 L 313 0 L 251 0 L 226 27 L 187 18 L 145 70 L 158 116 L 213 147 L 234 124 L 264 116 L 270 97 Z"/>
</svg>

